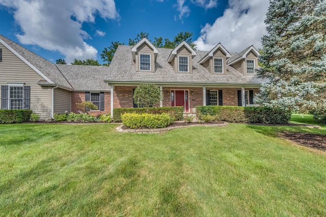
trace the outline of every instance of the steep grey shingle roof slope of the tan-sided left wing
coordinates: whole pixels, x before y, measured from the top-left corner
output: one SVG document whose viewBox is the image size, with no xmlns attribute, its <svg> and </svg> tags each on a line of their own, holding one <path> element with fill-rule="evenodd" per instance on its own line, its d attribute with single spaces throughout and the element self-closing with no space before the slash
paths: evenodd
<svg viewBox="0 0 326 217">
<path fill-rule="evenodd" d="M 32 52 L 31 50 L 24 48 L 23 46 L 11 41 L 3 35 L 0 35 L 0 39 L 2 39 L 6 44 L 12 47 L 21 57 L 30 62 L 35 68 L 37 68 L 53 83 L 72 89 L 68 80 L 60 72 L 56 64 L 45 60 L 44 58 L 38 56 L 36 53 Z"/>
</svg>

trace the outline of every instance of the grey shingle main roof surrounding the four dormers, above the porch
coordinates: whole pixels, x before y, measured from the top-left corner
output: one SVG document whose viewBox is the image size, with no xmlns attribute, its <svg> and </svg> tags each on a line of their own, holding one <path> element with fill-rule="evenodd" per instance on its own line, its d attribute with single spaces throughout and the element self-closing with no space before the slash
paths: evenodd
<svg viewBox="0 0 326 217">
<path fill-rule="evenodd" d="M 104 80 L 115 82 L 147 82 L 147 83 L 177 83 L 177 84 L 252 84 L 260 85 L 263 80 L 256 75 L 243 75 L 232 66 L 227 66 L 223 74 L 211 74 L 198 62 L 209 51 L 197 50 L 193 58 L 193 73 L 175 73 L 173 66 L 167 62 L 172 49 L 158 48 L 155 62 L 155 72 L 135 71 L 135 62 L 131 57 L 131 47 L 119 45 L 115 56 L 108 67 Z"/>
</svg>

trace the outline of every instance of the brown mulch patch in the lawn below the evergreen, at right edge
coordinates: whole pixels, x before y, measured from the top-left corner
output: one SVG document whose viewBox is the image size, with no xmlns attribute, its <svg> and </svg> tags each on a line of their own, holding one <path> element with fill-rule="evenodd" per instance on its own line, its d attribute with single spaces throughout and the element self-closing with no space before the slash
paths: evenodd
<svg viewBox="0 0 326 217">
<path fill-rule="evenodd" d="M 299 145 L 326 151 L 326 135 L 304 132 L 283 132 L 281 137 Z"/>
</svg>

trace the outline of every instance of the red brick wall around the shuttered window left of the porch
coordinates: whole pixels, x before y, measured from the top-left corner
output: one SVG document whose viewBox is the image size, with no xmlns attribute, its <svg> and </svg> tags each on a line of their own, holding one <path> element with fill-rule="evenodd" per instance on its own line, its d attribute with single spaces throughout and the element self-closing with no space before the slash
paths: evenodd
<svg viewBox="0 0 326 217">
<path fill-rule="evenodd" d="M 76 103 L 85 101 L 85 92 L 72 92 L 71 93 L 71 110 L 74 113 L 78 113 Z M 111 94 L 110 92 L 104 92 L 104 111 L 90 111 L 90 115 L 99 115 L 111 113 Z"/>
</svg>

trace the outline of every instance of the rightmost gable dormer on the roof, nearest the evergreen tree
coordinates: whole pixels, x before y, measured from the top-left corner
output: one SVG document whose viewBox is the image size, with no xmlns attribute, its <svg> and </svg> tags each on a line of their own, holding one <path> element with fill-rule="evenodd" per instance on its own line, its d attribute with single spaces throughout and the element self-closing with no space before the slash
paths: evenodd
<svg viewBox="0 0 326 217">
<path fill-rule="evenodd" d="M 255 69 L 258 68 L 258 50 L 251 45 L 250 47 L 242 50 L 237 55 L 231 57 L 228 65 L 233 66 L 243 75 L 254 75 Z"/>
</svg>

